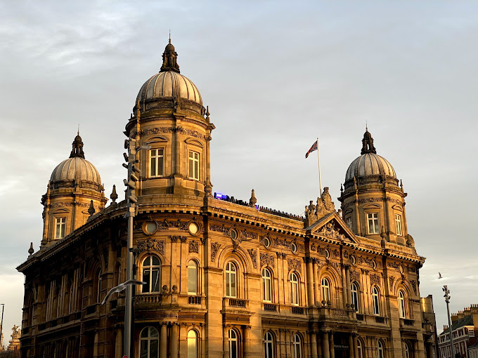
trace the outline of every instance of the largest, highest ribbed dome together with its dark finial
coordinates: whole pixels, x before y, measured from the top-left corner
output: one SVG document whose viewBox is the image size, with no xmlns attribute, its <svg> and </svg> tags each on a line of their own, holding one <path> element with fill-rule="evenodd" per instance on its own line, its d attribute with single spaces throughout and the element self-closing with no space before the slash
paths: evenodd
<svg viewBox="0 0 478 358">
<path fill-rule="evenodd" d="M 169 39 L 169 44 L 164 48 L 162 54 L 160 73 L 155 74 L 141 86 L 136 97 L 136 103 L 161 98 L 182 98 L 202 105 L 198 87 L 193 84 L 193 81 L 180 74 L 177 58 L 178 54 L 171 44 L 171 39 Z"/>
</svg>

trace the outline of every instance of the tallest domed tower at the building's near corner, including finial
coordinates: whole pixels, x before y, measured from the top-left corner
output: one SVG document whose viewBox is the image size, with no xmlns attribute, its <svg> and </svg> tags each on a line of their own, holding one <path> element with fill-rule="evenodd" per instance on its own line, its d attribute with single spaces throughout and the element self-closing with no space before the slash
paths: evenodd
<svg viewBox="0 0 478 358">
<path fill-rule="evenodd" d="M 139 90 L 134 115 L 124 132 L 137 145 L 141 169 L 136 195 L 181 194 L 203 197 L 209 183 L 209 140 L 214 124 L 198 88 L 179 73 L 174 46 L 167 44 L 160 72 Z"/>
</svg>

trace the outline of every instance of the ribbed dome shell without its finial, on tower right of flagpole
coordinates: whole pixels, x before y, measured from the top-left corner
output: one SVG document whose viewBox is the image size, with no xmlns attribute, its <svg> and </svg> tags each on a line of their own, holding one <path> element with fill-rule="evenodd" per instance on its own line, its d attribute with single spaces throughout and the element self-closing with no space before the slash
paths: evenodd
<svg viewBox="0 0 478 358">
<path fill-rule="evenodd" d="M 366 153 L 351 162 L 345 181 L 354 180 L 354 176 L 359 178 L 373 175 L 386 175 L 396 179 L 395 169 L 387 159 L 375 153 Z"/>
</svg>

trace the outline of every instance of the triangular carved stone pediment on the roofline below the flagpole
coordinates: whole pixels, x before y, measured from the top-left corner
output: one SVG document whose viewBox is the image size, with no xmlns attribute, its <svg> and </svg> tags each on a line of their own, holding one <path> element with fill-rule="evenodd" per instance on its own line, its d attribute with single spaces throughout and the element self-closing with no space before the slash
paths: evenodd
<svg viewBox="0 0 478 358">
<path fill-rule="evenodd" d="M 354 233 L 351 232 L 344 220 L 335 212 L 328 213 L 309 227 L 306 227 L 306 232 L 312 236 L 356 243 Z"/>
</svg>

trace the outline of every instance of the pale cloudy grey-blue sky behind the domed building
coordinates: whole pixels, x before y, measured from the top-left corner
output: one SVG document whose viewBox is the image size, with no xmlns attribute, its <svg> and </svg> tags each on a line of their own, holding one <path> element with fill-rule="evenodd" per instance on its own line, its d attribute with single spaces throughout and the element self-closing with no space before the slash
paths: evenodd
<svg viewBox="0 0 478 358">
<path fill-rule="evenodd" d="M 437 328 L 478 303 L 475 1 L 1 1 L 0 303 L 21 325 L 41 195 L 77 127 L 105 184 L 121 187 L 124 126 L 161 66 L 169 29 L 209 105 L 213 191 L 301 214 L 332 198 L 368 129 L 403 180 L 408 232 L 427 258 L 420 295 Z M 335 200 L 338 208 L 339 201 Z M 444 279 L 438 279 L 441 272 Z"/>
</svg>

